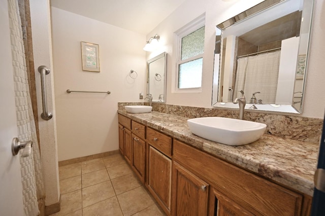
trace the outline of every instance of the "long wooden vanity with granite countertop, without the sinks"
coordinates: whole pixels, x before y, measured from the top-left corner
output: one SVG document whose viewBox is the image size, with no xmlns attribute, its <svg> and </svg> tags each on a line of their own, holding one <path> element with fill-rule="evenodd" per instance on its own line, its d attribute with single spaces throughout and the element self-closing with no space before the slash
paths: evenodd
<svg viewBox="0 0 325 216">
<path fill-rule="evenodd" d="M 309 215 L 318 145 L 264 134 L 244 146 L 187 118 L 118 110 L 119 150 L 167 215 Z"/>
</svg>

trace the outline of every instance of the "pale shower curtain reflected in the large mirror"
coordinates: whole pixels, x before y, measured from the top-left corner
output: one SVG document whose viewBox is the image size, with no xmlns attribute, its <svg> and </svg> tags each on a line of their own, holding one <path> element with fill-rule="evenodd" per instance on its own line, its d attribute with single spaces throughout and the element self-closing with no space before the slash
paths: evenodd
<svg viewBox="0 0 325 216">
<path fill-rule="evenodd" d="M 245 92 L 247 101 L 254 92 L 261 92 L 256 94 L 257 99 L 275 103 L 280 54 L 277 50 L 238 58 L 234 98 L 240 97 L 240 90 Z"/>
</svg>

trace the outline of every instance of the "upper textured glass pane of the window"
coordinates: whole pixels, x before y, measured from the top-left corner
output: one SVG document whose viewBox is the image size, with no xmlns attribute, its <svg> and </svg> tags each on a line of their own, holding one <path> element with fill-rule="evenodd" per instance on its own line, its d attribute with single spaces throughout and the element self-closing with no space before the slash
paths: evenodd
<svg viewBox="0 0 325 216">
<path fill-rule="evenodd" d="M 182 38 L 181 60 L 203 53 L 204 29 L 205 27 L 203 26 Z"/>
</svg>

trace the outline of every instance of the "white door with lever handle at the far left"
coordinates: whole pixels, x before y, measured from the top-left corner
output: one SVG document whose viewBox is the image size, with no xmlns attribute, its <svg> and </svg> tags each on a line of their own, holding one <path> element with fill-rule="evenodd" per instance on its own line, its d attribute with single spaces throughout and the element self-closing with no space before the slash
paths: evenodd
<svg viewBox="0 0 325 216">
<path fill-rule="evenodd" d="M 0 215 L 23 215 L 19 155 L 11 153 L 17 123 L 8 2 L 0 1 Z"/>
</svg>

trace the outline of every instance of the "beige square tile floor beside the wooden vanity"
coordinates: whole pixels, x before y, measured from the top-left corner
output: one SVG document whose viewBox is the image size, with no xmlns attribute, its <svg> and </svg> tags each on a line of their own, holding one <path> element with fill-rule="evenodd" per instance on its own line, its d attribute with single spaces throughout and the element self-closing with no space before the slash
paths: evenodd
<svg viewBox="0 0 325 216">
<path fill-rule="evenodd" d="M 165 215 L 120 154 L 59 167 L 61 210 L 51 215 Z"/>
</svg>

